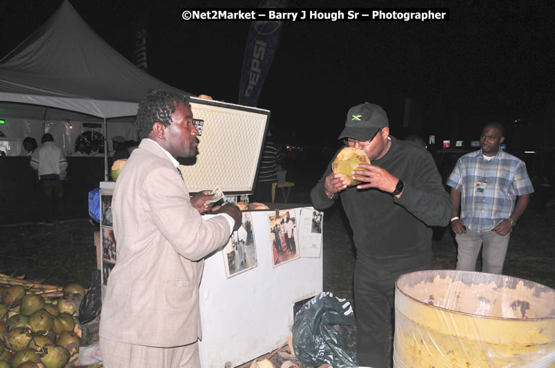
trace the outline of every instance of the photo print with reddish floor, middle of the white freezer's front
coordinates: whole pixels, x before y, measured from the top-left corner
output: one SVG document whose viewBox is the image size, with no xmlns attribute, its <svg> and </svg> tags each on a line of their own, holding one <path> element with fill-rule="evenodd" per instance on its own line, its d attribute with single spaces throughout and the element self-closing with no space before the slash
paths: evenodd
<svg viewBox="0 0 555 368">
<path fill-rule="evenodd" d="M 276 209 L 268 219 L 273 266 L 299 258 L 295 209 Z"/>
</svg>

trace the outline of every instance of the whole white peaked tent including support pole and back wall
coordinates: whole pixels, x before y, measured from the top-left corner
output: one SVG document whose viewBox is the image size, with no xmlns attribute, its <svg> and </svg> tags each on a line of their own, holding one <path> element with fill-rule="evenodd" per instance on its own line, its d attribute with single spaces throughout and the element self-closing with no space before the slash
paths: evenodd
<svg viewBox="0 0 555 368">
<path fill-rule="evenodd" d="M 107 180 L 106 120 L 129 121 L 113 118 L 137 114 L 138 103 L 150 88 L 191 96 L 122 57 L 64 0 L 46 23 L 0 60 L 0 113 L 17 116 L 0 129 L 8 135 L 4 140 L 10 141 L 9 145 L 19 146 L 24 136 L 39 141 L 44 132 L 52 132 L 55 143 L 71 154 L 75 139 L 84 132 L 84 123 L 71 121 L 100 119 Z M 77 117 L 70 112 L 84 115 Z M 134 135 L 131 123 L 117 125 L 110 136 Z M 18 151 L 21 147 L 13 150 Z"/>
</svg>

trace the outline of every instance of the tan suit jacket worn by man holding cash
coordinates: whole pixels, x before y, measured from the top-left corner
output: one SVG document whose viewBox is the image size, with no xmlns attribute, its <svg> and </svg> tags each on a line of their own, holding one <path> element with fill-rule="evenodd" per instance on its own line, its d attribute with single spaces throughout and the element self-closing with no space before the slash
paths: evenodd
<svg viewBox="0 0 555 368">
<path fill-rule="evenodd" d="M 113 224 L 117 263 L 108 278 L 100 336 L 152 347 L 197 341 L 203 258 L 228 241 L 226 218 L 203 221 L 176 167 L 145 140 L 117 179 Z"/>
</svg>

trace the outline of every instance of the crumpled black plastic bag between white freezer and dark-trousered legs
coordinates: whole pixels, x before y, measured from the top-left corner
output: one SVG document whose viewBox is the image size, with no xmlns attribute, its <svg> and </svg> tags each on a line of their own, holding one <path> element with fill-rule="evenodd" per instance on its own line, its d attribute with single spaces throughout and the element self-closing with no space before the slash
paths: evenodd
<svg viewBox="0 0 555 368">
<path fill-rule="evenodd" d="M 293 322 L 293 349 L 298 360 L 316 367 L 358 367 L 356 320 L 347 299 L 322 293 L 307 302 Z"/>
</svg>

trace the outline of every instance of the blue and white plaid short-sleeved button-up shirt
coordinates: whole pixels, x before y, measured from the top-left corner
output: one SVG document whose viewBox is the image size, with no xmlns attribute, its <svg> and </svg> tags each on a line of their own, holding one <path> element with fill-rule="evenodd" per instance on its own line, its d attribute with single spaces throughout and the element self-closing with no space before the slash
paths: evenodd
<svg viewBox="0 0 555 368">
<path fill-rule="evenodd" d="M 478 189 L 483 184 L 483 190 Z M 461 192 L 460 218 L 467 229 L 487 232 L 508 218 L 516 196 L 534 192 L 523 161 L 503 150 L 487 161 L 482 150 L 458 159 L 447 185 Z"/>
</svg>

